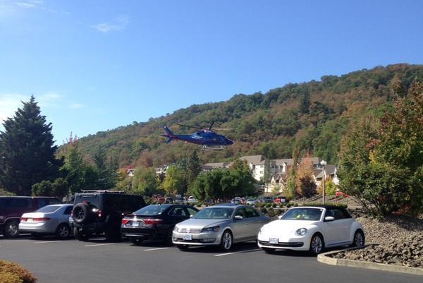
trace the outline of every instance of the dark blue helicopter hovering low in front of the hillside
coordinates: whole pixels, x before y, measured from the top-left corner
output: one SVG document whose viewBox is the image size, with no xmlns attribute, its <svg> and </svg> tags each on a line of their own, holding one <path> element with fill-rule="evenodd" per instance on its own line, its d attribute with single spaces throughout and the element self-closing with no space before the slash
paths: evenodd
<svg viewBox="0 0 423 283">
<path fill-rule="evenodd" d="M 166 143 L 170 143 L 172 140 L 182 140 L 185 143 L 195 143 L 197 145 L 202 145 L 202 150 L 223 150 L 226 145 L 232 145 L 232 140 L 229 140 L 225 136 L 219 135 L 212 131 L 213 124 L 214 122 L 212 122 L 212 124 L 208 128 L 200 128 L 196 126 L 186 126 L 183 124 L 178 124 L 179 126 L 185 126 L 188 128 L 198 128 L 202 130 L 196 131 L 195 133 L 191 133 L 190 135 L 173 134 L 167 126 L 163 126 L 166 134 L 161 136 L 168 138 L 168 140 L 166 140 Z"/>
</svg>

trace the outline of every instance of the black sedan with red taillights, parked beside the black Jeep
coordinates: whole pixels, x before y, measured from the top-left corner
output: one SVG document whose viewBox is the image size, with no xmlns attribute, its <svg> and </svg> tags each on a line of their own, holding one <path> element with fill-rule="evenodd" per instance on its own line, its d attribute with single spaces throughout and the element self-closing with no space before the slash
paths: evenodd
<svg viewBox="0 0 423 283">
<path fill-rule="evenodd" d="M 135 244 L 147 239 L 159 239 L 170 245 L 173 227 L 197 211 L 190 205 L 147 205 L 123 217 L 121 234 Z"/>
</svg>

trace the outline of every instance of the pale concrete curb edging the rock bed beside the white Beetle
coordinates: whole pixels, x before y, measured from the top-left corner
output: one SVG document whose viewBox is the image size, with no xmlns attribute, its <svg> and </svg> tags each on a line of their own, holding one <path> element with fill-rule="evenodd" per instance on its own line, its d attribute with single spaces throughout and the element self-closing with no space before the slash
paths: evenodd
<svg viewBox="0 0 423 283">
<path fill-rule="evenodd" d="M 374 243 L 369 243 L 365 246 L 371 246 L 371 245 L 374 245 Z M 407 273 L 412 275 L 423 275 L 423 268 L 407 267 L 407 266 L 399 266 L 399 265 L 387 265 L 384 263 L 371 263 L 368 261 L 360 261 L 360 260 L 345 260 L 343 258 L 331 257 L 331 255 L 339 253 L 341 251 L 350 251 L 353 249 L 357 249 L 357 248 L 345 248 L 343 250 L 320 253 L 319 255 L 317 255 L 317 261 L 319 263 L 326 263 L 328 265 L 359 267 L 359 268 L 367 268 L 372 270 L 383 270 L 388 272 L 400 272 L 400 273 Z"/>
</svg>

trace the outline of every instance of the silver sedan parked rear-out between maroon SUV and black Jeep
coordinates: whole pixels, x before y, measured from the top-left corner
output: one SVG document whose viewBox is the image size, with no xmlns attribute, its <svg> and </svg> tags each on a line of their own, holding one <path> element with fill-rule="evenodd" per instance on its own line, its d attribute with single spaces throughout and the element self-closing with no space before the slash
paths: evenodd
<svg viewBox="0 0 423 283">
<path fill-rule="evenodd" d="M 72 204 L 47 205 L 35 212 L 24 213 L 20 217 L 19 231 L 34 236 L 55 234 L 59 239 L 67 239 L 71 234 L 69 216 Z"/>
</svg>

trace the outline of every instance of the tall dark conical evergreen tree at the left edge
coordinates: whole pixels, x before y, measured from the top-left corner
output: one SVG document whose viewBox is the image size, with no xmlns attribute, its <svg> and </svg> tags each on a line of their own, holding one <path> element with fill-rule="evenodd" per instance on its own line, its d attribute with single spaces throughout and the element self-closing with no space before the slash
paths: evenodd
<svg viewBox="0 0 423 283">
<path fill-rule="evenodd" d="M 0 132 L 0 186 L 17 195 L 31 195 L 33 184 L 59 176 L 61 160 L 55 157 L 51 123 L 46 124 L 35 97 L 22 103 Z"/>
</svg>

